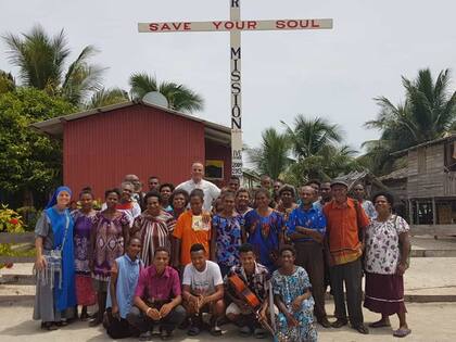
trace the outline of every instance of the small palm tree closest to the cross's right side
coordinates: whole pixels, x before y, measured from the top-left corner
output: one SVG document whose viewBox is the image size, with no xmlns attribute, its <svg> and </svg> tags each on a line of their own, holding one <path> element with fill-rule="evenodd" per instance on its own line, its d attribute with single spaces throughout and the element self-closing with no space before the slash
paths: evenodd
<svg viewBox="0 0 456 342">
<path fill-rule="evenodd" d="M 262 134 L 262 145 L 246 150 L 250 161 L 257 172 L 277 179 L 290 164 L 290 140 L 287 135 L 275 128 L 267 128 Z"/>
</svg>

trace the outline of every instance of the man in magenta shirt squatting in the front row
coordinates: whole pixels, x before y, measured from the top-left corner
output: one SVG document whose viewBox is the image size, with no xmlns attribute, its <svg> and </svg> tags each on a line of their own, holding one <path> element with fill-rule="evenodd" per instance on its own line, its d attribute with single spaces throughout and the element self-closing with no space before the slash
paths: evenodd
<svg viewBox="0 0 456 342">
<path fill-rule="evenodd" d="M 168 263 L 168 250 L 157 248 L 153 264 L 139 276 L 134 297 L 136 306 L 131 308 L 127 320 L 141 332 L 141 341 L 149 341 L 153 334 L 161 334 L 162 340 L 168 340 L 175 327 L 186 317 L 180 305 L 179 275 Z"/>
</svg>

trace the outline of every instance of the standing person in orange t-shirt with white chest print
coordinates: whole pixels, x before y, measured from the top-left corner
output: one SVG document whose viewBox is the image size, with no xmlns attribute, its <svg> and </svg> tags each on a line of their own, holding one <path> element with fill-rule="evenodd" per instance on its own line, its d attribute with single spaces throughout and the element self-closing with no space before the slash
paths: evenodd
<svg viewBox="0 0 456 342">
<path fill-rule="evenodd" d="M 195 243 L 204 246 L 206 257 L 208 257 L 211 244 L 211 220 L 203 215 L 204 192 L 194 189 L 190 193 L 190 210 L 183 212 L 173 231 L 175 238 L 173 266 L 183 269 L 191 263 L 190 249 Z"/>
</svg>

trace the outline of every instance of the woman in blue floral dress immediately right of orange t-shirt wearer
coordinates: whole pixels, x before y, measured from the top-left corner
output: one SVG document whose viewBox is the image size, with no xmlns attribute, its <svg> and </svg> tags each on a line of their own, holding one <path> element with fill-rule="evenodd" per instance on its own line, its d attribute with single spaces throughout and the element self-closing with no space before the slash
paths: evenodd
<svg viewBox="0 0 456 342">
<path fill-rule="evenodd" d="M 232 266 L 239 264 L 243 218 L 235 210 L 235 200 L 236 193 L 226 191 L 221 198 L 224 210 L 212 219 L 214 233 L 212 241 L 215 245 L 211 246 L 211 259 L 220 266 L 221 277 L 225 277 Z"/>
</svg>

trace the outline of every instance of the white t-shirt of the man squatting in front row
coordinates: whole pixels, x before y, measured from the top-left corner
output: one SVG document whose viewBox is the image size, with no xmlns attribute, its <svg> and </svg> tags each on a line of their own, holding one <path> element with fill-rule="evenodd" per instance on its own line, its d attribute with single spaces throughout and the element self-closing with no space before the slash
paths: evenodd
<svg viewBox="0 0 456 342">
<path fill-rule="evenodd" d="M 193 294 L 211 295 L 215 292 L 215 287 L 224 283 L 220 267 L 211 261 L 206 261 L 203 271 L 194 268 L 193 264 L 187 265 L 182 279 L 182 284 L 190 286 Z"/>
</svg>

